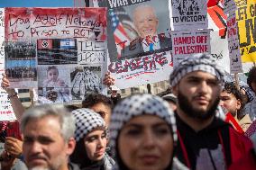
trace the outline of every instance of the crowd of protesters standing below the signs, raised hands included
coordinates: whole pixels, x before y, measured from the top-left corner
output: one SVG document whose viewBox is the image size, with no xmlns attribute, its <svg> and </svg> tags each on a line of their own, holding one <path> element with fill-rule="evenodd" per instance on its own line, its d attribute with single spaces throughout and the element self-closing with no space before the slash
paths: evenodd
<svg viewBox="0 0 256 170">
<path fill-rule="evenodd" d="M 247 88 L 251 94 L 255 75 L 252 67 Z M 109 73 L 104 82 L 115 90 Z M 255 95 L 242 95 L 242 88 L 225 82 L 224 70 L 206 54 L 174 67 L 169 84 L 170 94 L 133 94 L 115 105 L 114 97 L 90 94 L 82 108 L 41 104 L 25 110 L 14 89 L 6 88 L 4 74 L 1 85 L 23 140 L 5 138 L 1 166 L 11 169 L 19 159 L 27 166 L 23 168 L 52 170 L 256 167 L 256 114 L 246 112 Z"/>
</svg>

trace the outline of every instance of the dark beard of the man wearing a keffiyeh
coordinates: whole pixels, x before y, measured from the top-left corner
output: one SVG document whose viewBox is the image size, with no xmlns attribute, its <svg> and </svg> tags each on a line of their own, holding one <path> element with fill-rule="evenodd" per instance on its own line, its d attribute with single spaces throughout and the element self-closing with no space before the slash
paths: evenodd
<svg viewBox="0 0 256 170">
<path fill-rule="evenodd" d="M 178 90 L 178 105 L 179 108 L 187 114 L 187 116 L 191 118 L 197 118 L 199 120 L 207 120 L 210 117 L 215 115 L 216 108 L 220 102 L 220 98 L 217 97 L 215 99 L 215 102 L 213 103 L 212 106 L 210 106 L 206 111 L 198 110 L 193 107 L 192 103 L 188 101 L 188 98 L 186 95 L 182 94 Z"/>
</svg>

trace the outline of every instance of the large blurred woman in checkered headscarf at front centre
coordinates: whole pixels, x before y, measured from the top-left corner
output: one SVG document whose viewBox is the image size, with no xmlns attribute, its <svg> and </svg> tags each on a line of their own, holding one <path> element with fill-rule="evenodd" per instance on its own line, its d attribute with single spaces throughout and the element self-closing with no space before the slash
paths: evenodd
<svg viewBox="0 0 256 170">
<path fill-rule="evenodd" d="M 187 169 L 173 159 L 176 142 L 174 114 L 159 96 L 136 94 L 114 107 L 110 123 L 114 169 Z"/>
</svg>

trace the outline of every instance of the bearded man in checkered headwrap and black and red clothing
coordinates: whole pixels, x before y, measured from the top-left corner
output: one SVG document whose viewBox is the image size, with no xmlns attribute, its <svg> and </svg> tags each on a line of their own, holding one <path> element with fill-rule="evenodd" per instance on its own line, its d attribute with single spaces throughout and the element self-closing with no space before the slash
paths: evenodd
<svg viewBox="0 0 256 170">
<path fill-rule="evenodd" d="M 170 75 L 178 97 L 176 157 L 190 169 L 227 169 L 251 148 L 251 140 L 218 119 L 224 71 L 206 54 L 189 57 Z"/>
</svg>

